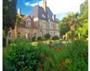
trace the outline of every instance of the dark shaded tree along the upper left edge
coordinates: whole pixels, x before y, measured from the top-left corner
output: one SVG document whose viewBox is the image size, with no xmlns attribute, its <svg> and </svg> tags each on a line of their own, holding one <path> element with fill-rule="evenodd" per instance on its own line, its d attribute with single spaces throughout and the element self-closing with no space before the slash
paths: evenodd
<svg viewBox="0 0 90 71">
<path fill-rule="evenodd" d="M 3 38 L 7 38 L 10 27 L 14 28 L 16 21 L 16 1 L 3 0 L 3 32 L 5 33 L 5 37 Z"/>
</svg>

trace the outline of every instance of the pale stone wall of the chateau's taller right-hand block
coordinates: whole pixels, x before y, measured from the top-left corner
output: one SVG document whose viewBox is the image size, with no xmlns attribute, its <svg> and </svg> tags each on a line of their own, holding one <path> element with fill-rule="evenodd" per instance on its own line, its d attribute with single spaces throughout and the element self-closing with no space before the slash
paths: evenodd
<svg viewBox="0 0 90 71">
<path fill-rule="evenodd" d="M 59 28 L 58 24 L 56 22 L 50 21 L 47 22 L 45 20 L 39 20 L 40 25 L 40 32 L 42 33 L 42 36 L 49 33 L 52 37 L 53 36 L 59 36 Z"/>
</svg>

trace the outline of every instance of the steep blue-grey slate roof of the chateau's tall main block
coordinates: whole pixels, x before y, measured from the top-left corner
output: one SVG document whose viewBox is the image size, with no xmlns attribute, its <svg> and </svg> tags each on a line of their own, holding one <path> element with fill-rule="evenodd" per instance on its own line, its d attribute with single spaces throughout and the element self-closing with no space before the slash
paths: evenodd
<svg viewBox="0 0 90 71">
<path fill-rule="evenodd" d="M 54 14 L 50 10 L 50 8 L 46 7 L 46 12 L 45 12 L 44 9 L 39 5 L 36 5 L 30 14 L 30 16 L 32 17 L 38 17 L 39 19 L 44 19 L 44 20 L 47 19 L 53 20 L 52 19 L 53 15 Z"/>
</svg>

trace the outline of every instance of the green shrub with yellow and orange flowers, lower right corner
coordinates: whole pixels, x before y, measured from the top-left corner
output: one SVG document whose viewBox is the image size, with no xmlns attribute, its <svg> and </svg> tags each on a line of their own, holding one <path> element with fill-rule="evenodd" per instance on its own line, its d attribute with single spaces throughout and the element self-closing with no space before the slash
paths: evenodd
<svg viewBox="0 0 90 71">
<path fill-rule="evenodd" d="M 85 40 L 73 40 L 67 43 L 59 54 L 62 71 L 88 71 L 88 43 Z"/>
</svg>

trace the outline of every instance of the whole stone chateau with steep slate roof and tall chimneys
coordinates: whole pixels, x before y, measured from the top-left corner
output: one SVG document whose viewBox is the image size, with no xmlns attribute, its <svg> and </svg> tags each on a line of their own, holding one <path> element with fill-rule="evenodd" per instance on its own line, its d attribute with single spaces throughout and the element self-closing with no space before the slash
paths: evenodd
<svg viewBox="0 0 90 71">
<path fill-rule="evenodd" d="M 18 12 L 20 14 L 20 11 Z M 12 31 L 12 30 L 11 30 Z M 50 34 L 51 37 L 59 37 L 58 23 L 56 16 L 47 7 L 46 0 L 43 0 L 43 6 L 36 5 L 30 15 L 24 16 L 22 22 L 15 26 L 12 37 L 44 37 Z"/>
</svg>

